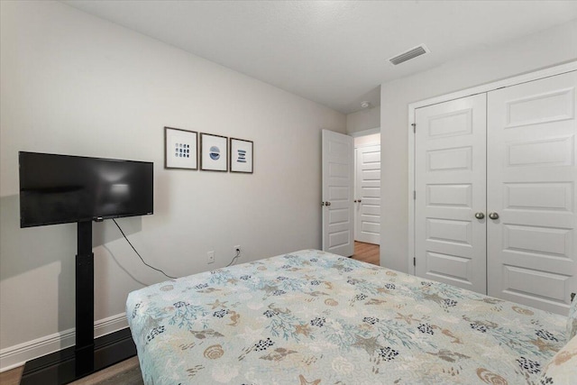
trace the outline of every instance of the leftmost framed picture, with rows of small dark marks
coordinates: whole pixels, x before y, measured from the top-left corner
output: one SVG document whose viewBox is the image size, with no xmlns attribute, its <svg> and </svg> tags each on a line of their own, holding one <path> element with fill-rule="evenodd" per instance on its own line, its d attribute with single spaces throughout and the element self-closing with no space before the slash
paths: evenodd
<svg viewBox="0 0 577 385">
<path fill-rule="evenodd" d="M 164 168 L 198 170 L 198 133 L 164 127 Z"/>
</svg>

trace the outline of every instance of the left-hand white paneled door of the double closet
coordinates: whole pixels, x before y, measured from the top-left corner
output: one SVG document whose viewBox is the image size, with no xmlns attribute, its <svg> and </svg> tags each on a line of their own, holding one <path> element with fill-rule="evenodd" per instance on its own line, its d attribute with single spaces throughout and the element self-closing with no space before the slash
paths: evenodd
<svg viewBox="0 0 577 385">
<path fill-rule="evenodd" d="M 486 96 L 416 110 L 417 276 L 485 294 Z"/>
</svg>

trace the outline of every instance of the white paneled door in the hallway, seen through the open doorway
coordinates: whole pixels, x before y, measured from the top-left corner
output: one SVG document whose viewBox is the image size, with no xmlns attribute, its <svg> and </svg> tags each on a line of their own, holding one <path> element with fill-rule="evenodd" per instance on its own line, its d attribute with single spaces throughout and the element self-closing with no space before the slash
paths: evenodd
<svg viewBox="0 0 577 385">
<path fill-rule="evenodd" d="M 380 145 L 355 154 L 354 239 L 380 244 Z"/>
</svg>

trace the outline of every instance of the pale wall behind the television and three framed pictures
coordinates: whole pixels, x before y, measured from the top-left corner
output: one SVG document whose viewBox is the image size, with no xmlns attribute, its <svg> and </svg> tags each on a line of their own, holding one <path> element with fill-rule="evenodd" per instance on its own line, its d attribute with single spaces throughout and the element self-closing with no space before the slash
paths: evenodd
<svg viewBox="0 0 577 385">
<path fill-rule="evenodd" d="M 223 267 L 237 244 L 241 262 L 321 247 L 321 129 L 344 133 L 344 115 L 58 2 L 0 14 L 2 369 L 75 325 L 76 225 L 19 228 L 18 151 L 153 161 L 154 215 L 118 222 L 169 275 Z M 254 141 L 254 174 L 164 170 L 165 125 Z M 106 331 L 130 291 L 166 279 L 112 221 L 93 233 Z"/>
</svg>

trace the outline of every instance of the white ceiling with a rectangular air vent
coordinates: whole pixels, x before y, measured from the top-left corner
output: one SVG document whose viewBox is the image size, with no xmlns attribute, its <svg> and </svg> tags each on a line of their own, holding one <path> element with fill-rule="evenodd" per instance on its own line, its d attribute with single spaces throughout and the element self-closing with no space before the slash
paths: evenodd
<svg viewBox="0 0 577 385">
<path fill-rule="evenodd" d="M 343 114 L 380 84 L 577 19 L 577 1 L 64 0 Z M 389 59 L 425 43 L 398 66 Z"/>
</svg>

